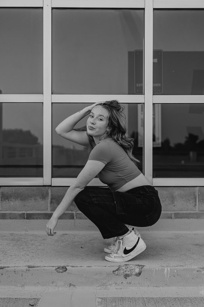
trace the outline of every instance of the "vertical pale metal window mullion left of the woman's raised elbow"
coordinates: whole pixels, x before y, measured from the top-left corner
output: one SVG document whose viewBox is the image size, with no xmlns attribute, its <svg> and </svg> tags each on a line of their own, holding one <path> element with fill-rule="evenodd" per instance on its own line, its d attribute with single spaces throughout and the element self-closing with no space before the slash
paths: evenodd
<svg viewBox="0 0 204 307">
<path fill-rule="evenodd" d="M 51 185 L 51 0 L 43 1 L 43 185 Z"/>
</svg>

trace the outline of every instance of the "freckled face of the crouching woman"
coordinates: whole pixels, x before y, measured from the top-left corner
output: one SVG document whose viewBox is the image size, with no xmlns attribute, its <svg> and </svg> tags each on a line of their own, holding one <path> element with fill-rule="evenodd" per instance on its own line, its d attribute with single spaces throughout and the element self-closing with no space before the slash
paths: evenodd
<svg viewBox="0 0 204 307">
<path fill-rule="evenodd" d="M 101 137 L 108 127 L 109 112 L 102 106 L 95 106 L 86 122 L 87 133 L 93 137 Z"/>
</svg>

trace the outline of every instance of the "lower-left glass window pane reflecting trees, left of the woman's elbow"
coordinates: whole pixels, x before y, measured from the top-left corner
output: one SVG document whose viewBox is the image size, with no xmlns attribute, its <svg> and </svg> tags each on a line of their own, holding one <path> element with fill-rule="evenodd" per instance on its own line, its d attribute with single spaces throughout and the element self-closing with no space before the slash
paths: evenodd
<svg viewBox="0 0 204 307">
<path fill-rule="evenodd" d="M 0 103 L 1 177 L 43 177 L 43 104 Z"/>
</svg>

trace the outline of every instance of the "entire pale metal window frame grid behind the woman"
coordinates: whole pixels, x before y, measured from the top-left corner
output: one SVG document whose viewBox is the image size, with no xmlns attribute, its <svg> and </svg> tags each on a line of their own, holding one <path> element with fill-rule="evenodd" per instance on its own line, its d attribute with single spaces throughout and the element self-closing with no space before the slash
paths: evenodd
<svg viewBox="0 0 204 307">
<path fill-rule="evenodd" d="M 153 9 L 203 9 L 203 0 L 0 0 L 3 7 L 43 8 L 43 94 L 0 95 L 0 102 L 43 102 L 43 177 L 0 177 L 0 186 L 69 186 L 74 178 L 51 178 L 52 103 L 81 103 L 118 99 L 121 103 L 144 103 L 144 175 L 155 186 L 204 186 L 203 178 L 153 178 L 153 104 L 203 103 L 203 95 L 153 95 Z M 51 94 L 52 8 L 121 8 L 145 10 L 144 95 Z M 89 185 L 103 186 L 98 178 Z"/>
</svg>

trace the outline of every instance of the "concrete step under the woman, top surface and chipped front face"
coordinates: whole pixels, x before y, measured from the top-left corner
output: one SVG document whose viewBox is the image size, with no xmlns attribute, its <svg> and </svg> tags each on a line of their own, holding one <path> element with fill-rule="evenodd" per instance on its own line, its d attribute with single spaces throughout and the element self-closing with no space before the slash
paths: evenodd
<svg viewBox="0 0 204 307">
<path fill-rule="evenodd" d="M 203 285 L 203 230 L 138 228 L 146 250 L 128 262 L 114 263 L 104 259 L 103 251 L 111 239 L 104 240 L 99 231 L 58 227 L 57 234 L 48 237 L 45 231 L 34 231 L 38 229 L 34 224 L 32 227 L 21 231 L 19 224 L 18 231 L 1 232 L 1 286 Z"/>
</svg>

